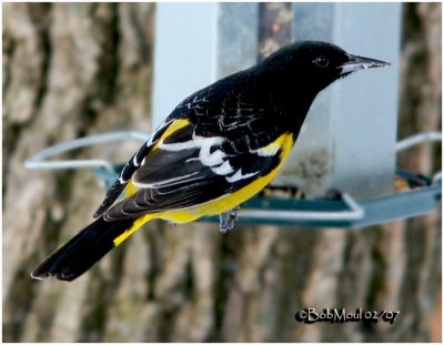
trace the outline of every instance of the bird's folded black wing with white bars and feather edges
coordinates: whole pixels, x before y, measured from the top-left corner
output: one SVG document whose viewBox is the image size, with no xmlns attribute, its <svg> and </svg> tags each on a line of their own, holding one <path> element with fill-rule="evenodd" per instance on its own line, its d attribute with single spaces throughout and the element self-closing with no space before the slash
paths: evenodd
<svg viewBox="0 0 444 345">
<path fill-rule="evenodd" d="M 171 126 L 175 123 L 186 124 L 158 141 L 132 175 L 138 192 L 108 210 L 105 220 L 200 205 L 240 190 L 280 162 L 279 150 L 229 154 L 226 138 L 200 136 L 195 124 L 176 120 Z"/>
</svg>

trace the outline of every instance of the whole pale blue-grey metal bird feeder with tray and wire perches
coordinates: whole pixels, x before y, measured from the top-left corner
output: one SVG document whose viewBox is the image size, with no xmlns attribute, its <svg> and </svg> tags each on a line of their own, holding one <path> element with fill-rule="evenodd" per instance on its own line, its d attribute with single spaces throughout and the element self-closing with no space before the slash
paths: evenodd
<svg viewBox="0 0 444 345">
<path fill-rule="evenodd" d="M 329 41 L 346 51 L 392 62 L 323 91 L 311 108 L 274 189 L 297 187 L 305 199 L 262 193 L 241 204 L 239 222 L 356 229 L 434 212 L 441 173 L 423 176 L 395 168 L 396 153 L 441 133 L 396 143 L 401 3 L 292 3 L 292 37 Z M 174 23 L 172 26 L 171 23 Z M 259 3 L 159 3 L 154 51 L 153 122 L 182 99 L 258 60 Z M 380 54 L 380 55 L 379 55 Z M 117 132 L 58 144 L 31 156 L 29 169 L 93 169 L 110 186 L 122 165 L 103 160 L 49 161 L 77 148 L 147 140 Z M 393 180 L 402 181 L 395 190 Z M 329 192 L 334 189 L 334 195 Z M 218 222 L 219 217 L 200 221 Z"/>
</svg>

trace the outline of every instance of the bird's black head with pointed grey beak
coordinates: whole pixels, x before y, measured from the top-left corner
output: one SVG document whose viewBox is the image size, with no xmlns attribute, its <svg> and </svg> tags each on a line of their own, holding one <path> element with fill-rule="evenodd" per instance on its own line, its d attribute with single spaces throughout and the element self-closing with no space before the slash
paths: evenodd
<svg viewBox="0 0 444 345">
<path fill-rule="evenodd" d="M 319 41 L 289 44 L 271 54 L 262 64 L 289 91 L 309 92 L 313 98 L 335 80 L 357 70 L 390 65 L 384 61 L 350 54 L 337 45 Z"/>
</svg>

